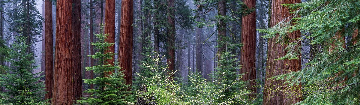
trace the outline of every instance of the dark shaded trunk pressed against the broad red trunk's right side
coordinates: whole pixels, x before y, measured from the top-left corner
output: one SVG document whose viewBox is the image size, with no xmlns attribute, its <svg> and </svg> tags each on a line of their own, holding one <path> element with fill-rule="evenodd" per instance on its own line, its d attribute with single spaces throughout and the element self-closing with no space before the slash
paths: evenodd
<svg viewBox="0 0 360 105">
<path fill-rule="evenodd" d="M 76 100 L 82 96 L 81 78 L 81 0 L 72 0 L 72 59 L 74 75 L 74 95 Z"/>
</svg>

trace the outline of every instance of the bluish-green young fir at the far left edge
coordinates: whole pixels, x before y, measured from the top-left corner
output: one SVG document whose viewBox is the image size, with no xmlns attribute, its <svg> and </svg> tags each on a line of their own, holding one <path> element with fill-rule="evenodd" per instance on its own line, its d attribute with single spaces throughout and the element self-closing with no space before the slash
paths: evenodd
<svg viewBox="0 0 360 105">
<path fill-rule="evenodd" d="M 4 86 L 6 92 L 1 92 L 1 103 L 14 105 L 42 105 L 47 100 L 43 100 L 44 83 L 38 82 L 40 73 L 33 73 L 37 68 L 34 66 L 35 60 L 30 60 L 33 53 L 27 53 L 26 37 L 16 37 L 16 42 L 9 51 L 9 61 L 13 66 L 4 67 L 10 71 L 9 74 L 1 74 L 0 84 Z"/>
</svg>

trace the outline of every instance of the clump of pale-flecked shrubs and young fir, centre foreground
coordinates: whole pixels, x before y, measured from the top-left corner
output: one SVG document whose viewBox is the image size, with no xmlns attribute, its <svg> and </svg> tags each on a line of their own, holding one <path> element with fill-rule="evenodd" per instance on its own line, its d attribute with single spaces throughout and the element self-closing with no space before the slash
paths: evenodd
<svg viewBox="0 0 360 105">
<path fill-rule="evenodd" d="M 156 52 L 147 53 L 137 73 L 137 81 L 142 81 L 136 92 L 140 105 L 251 105 L 254 104 L 246 82 L 241 81 L 240 67 L 234 54 L 225 52 L 219 59 L 219 66 L 214 74 L 215 81 L 209 81 L 196 73 L 191 73 L 189 82 L 182 84 L 171 78 L 175 72 L 169 72 L 162 64 L 164 56 Z M 225 72 L 225 73 L 224 73 Z M 134 103 L 133 103 L 134 104 Z"/>
</svg>

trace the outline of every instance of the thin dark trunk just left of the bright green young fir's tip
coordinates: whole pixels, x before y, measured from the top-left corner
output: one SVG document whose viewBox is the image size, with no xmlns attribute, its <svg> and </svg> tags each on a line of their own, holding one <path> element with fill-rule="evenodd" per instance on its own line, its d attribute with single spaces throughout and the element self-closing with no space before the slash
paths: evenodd
<svg viewBox="0 0 360 105">
<path fill-rule="evenodd" d="M 94 42 L 94 3 L 93 0 L 90 0 L 90 43 Z M 94 55 L 94 46 L 90 44 L 90 55 Z M 94 66 L 94 59 L 90 57 L 90 67 Z M 90 71 L 90 78 L 94 78 L 94 71 Z M 94 84 L 90 84 L 90 89 L 94 88 Z"/>
</svg>

